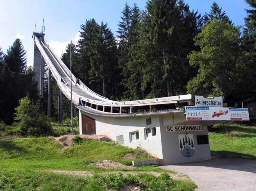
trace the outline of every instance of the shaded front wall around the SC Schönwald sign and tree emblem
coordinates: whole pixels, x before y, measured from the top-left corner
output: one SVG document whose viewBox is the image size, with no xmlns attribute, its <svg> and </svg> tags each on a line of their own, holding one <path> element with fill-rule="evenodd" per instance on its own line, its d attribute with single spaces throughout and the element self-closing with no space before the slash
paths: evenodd
<svg viewBox="0 0 256 191">
<path fill-rule="evenodd" d="M 187 134 L 192 134 L 194 139 L 195 151 L 191 157 L 185 157 L 180 152 L 178 135 L 185 135 L 186 132 L 166 132 L 166 126 L 168 125 L 203 125 L 202 121 L 185 121 L 186 117 L 183 114 L 162 115 L 161 118 L 160 130 L 164 164 L 178 164 L 211 159 L 210 145 L 198 145 L 196 138 L 197 135 L 208 135 L 207 126 L 203 126 L 203 131 L 187 132 Z"/>
</svg>

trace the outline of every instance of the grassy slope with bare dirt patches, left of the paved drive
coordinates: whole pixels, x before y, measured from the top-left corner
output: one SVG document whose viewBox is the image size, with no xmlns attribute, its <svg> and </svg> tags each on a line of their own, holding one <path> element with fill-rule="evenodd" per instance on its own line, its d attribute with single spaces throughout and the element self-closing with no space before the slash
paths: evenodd
<svg viewBox="0 0 256 191">
<path fill-rule="evenodd" d="M 142 190 L 193 190 L 192 181 L 172 180 L 168 174 L 152 175 L 102 175 L 106 171 L 158 171 L 155 166 L 133 169 L 104 169 L 91 163 L 97 160 L 112 160 L 129 163 L 123 156 L 129 152 L 135 159 L 149 159 L 146 152 L 123 147 L 113 142 L 98 142 L 83 139 L 63 149 L 63 145 L 51 138 L 19 138 L 0 141 L 0 190 L 109 190 L 135 184 Z M 96 175 L 81 177 L 62 175 L 47 170 L 87 170 Z"/>
</svg>

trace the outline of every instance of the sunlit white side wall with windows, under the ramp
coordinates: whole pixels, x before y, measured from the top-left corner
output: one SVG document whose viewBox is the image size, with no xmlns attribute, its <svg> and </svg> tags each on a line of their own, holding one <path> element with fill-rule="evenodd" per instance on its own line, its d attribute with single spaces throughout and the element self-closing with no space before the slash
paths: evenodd
<svg viewBox="0 0 256 191">
<path fill-rule="evenodd" d="M 117 136 L 123 135 L 124 146 L 137 148 L 138 146 L 148 151 L 151 155 L 163 158 L 162 155 L 162 144 L 161 144 L 161 132 L 159 126 L 159 116 L 140 116 L 136 117 L 106 117 L 91 115 L 84 113 L 79 110 L 79 122 L 80 122 L 80 134 L 82 133 L 82 121 L 81 114 L 85 114 L 96 120 L 96 134 L 107 135 L 112 140 L 117 142 Z M 156 136 L 146 138 L 146 119 L 151 117 L 151 125 L 148 127 L 156 127 Z M 134 131 L 139 131 L 139 140 L 130 141 L 130 133 Z M 119 141 L 119 140 L 118 140 Z"/>
</svg>

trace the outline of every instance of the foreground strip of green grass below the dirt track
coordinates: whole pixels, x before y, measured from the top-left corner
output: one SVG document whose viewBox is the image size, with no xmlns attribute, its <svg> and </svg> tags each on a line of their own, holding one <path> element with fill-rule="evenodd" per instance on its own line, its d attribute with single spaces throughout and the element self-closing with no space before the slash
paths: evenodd
<svg viewBox="0 0 256 191">
<path fill-rule="evenodd" d="M 166 173 L 159 177 L 148 174 L 110 173 L 92 177 L 69 176 L 51 172 L 8 169 L 0 170 L 0 190 L 118 190 L 137 185 L 141 190 L 193 190 L 192 181 L 172 180 Z"/>
</svg>

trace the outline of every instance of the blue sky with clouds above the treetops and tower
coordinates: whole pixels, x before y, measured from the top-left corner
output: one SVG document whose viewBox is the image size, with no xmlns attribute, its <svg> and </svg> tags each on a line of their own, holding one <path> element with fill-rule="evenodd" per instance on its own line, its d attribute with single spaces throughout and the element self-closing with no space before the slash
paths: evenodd
<svg viewBox="0 0 256 191">
<path fill-rule="evenodd" d="M 77 41 L 80 25 L 86 19 L 94 18 L 98 23 L 108 23 L 108 27 L 116 34 L 124 4 L 134 3 L 144 9 L 145 0 L 0 0 L 0 47 L 4 52 L 19 37 L 27 51 L 28 63 L 33 64 L 32 34 L 35 29 L 41 31 L 44 17 L 45 38 L 58 55 L 65 50 L 70 39 Z M 234 25 L 244 25 L 246 12 L 250 8 L 244 0 L 216 0 Z M 211 0 L 185 0 L 190 9 L 199 13 L 210 11 Z"/>
</svg>

